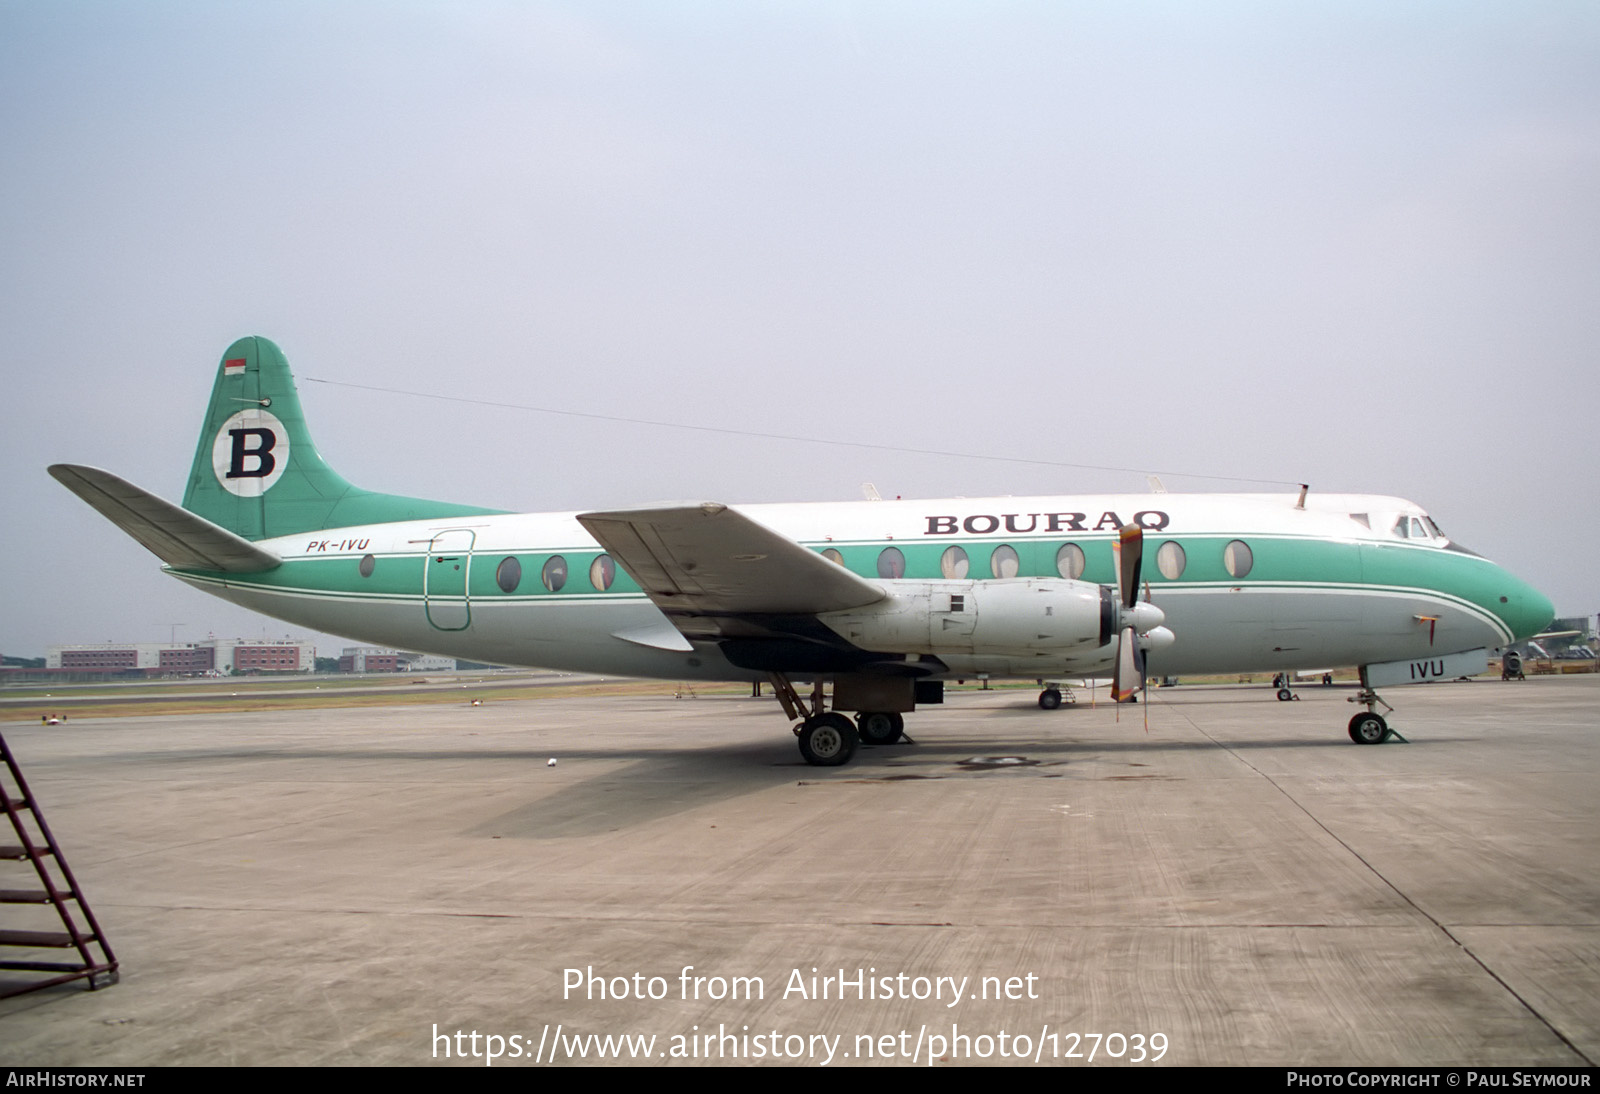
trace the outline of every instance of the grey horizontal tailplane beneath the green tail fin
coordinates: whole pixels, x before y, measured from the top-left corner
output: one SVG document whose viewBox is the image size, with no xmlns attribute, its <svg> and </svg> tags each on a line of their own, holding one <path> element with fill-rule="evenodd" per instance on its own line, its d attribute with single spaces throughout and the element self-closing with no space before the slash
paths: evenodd
<svg viewBox="0 0 1600 1094">
<path fill-rule="evenodd" d="M 259 574 L 283 565 L 270 550 L 99 467 L 51 464 L 50 475 L 176 569 Z"/>
</svg>

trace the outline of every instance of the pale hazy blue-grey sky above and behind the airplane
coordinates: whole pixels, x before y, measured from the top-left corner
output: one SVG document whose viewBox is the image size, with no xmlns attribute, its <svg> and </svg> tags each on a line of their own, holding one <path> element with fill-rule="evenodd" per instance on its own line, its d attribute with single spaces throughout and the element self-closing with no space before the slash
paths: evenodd
<svg viewBox="0 0 1600 1094">
<path fill-rule="evenodd" d="M 45 475 L 181 497 L 243 334 L 374 489 L 1146 481 L 307 377 L 1400 494 L 1594 613 L 1600 5 L 0 0 L 0 320 L 6 654 L 299 633 Z"/>
</svg>

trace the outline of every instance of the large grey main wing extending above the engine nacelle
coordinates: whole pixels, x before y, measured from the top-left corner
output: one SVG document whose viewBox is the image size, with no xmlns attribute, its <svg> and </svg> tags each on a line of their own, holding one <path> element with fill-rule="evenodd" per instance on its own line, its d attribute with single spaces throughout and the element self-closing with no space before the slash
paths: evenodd
<svg viewBox="0 0 1600 1094">
<path fill-rule="evenodd" d="M 747 633 L 765 616 L 861 608 L 885 592 L 814 550 L 717 502 L 581 513 L 685 635 Z"/>
</svg>

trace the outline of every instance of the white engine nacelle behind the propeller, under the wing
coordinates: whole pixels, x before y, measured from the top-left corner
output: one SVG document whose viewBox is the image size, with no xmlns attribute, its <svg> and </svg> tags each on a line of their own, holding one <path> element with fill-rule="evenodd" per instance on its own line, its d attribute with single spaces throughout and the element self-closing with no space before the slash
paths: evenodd
<svg viewBox="0 0 1600 1094">
<path fill-rule="evenodd" d="M 1035 654 L 1094 649 L 1115 637 L 1110 589 L 1062 577 L 885 581 L 886 600 L 818 616 L 875 653 Z"/>
</svg>

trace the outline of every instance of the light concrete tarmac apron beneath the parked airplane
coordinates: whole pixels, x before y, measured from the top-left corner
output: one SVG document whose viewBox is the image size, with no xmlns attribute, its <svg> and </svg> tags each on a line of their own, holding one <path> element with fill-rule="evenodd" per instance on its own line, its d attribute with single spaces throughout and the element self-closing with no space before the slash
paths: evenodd
<svg viewBox="0 0 1600 1094">
<path fill-rule="evenodd" d="M 8 726 L 122 982 L 0 1064 L 1600 1059 L 1600 677 L 1378 747 L 1299 694 L 960 693 L 830 769 L 670 685 Z"/>
</svg>

